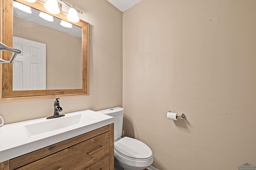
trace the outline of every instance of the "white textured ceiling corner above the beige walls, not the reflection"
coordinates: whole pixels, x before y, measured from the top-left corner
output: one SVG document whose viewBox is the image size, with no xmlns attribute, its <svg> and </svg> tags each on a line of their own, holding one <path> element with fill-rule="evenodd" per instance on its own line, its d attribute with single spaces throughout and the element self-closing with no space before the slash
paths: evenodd
<svg viewBox="0 0 256 170">
<path fill-rule="evenodd" d="M 111 4 L 113 4 L 120 11 L 124 12 L 129 8 L 132 8 L 134 5 L 138 4 L 142 0 L 107 0 Z"/>
</svg>

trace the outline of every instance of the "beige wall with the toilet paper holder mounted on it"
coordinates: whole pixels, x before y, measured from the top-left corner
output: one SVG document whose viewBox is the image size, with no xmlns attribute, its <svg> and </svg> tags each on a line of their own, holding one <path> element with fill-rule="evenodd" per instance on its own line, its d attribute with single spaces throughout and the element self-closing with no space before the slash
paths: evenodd
<svg viewBox="0 0 256 170">
<path fill-rule="evenodd" d="M 125 135 L 152 149 L 156 168 L 256 165 L 255 7 L 143 0 L 123 13 Z"/>
</svg>

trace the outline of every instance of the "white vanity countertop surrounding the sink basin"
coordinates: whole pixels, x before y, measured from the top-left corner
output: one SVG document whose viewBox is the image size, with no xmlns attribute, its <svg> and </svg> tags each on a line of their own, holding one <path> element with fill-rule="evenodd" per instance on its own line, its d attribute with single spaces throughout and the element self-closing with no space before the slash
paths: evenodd
<svg viewBox="0 0 256 170">
<path fill-rule="evenodd" d="M 55 121 L 58 125 L 58 120 L 79 114 L 82 114 L 83 119 L 81 119 L 78 124 L 70 125 L 68 127 L 62 125 L 62 127 L 57 130 L 41 133 L 39 135 L 30 135 L 25 128 L 26 125 L 41 122 L 48 123 L 48 121 Z M 89 117 L 93 118 L 86 119 Z M 54 119 L 46 119 L 46 117 L 44 117 L 40 119 L 11 123 L 0 127 L 0 162 L 114 123 L 113 117 L 92 110 L 67 113 L 63 117 Z"/>
</svg>

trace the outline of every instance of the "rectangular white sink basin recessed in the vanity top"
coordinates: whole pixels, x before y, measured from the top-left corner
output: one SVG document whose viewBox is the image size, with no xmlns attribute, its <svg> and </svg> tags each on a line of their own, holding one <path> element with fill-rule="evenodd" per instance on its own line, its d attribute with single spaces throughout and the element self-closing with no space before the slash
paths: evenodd
<svg viewBox="0 0 256 170">
<path fill-rule="evenodd" d="M 63 129 L 70 126 L 78 125 L 80 122 L 83 122 L 83 120 L 86 120 L 86 122 L 89 123 L 90 121 L 94 121 L 95 119 L 96 118 L 88 115 L 78 114 L 78 115 L 58 117 L 50 120 L 47 119 L 42 122 L 24 125 L 24 127 L 26 129 L 26 132 L 28 133 L 28 136 L 33 137 L 36 135 L 41 135 L 43 133 L 48 133 L 48 132 L 56 131 L 58 129 Z"/>
</svg>

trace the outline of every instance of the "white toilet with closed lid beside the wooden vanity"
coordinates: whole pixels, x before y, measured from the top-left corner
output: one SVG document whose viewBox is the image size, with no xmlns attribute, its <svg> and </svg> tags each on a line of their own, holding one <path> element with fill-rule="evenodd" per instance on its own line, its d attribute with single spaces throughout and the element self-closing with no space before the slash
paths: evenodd
<svg viewBox="0 0 256 170">
<path fill-rule="evenodd" d="M 143 170 L 153 162 L 151 149 L 143 142 L 130 137 L 121 137 L 124 109 L 114 107 L 97 111 L 114 117 L 114 157 L 115 167 L 124 170 Z"/>
</svg>

